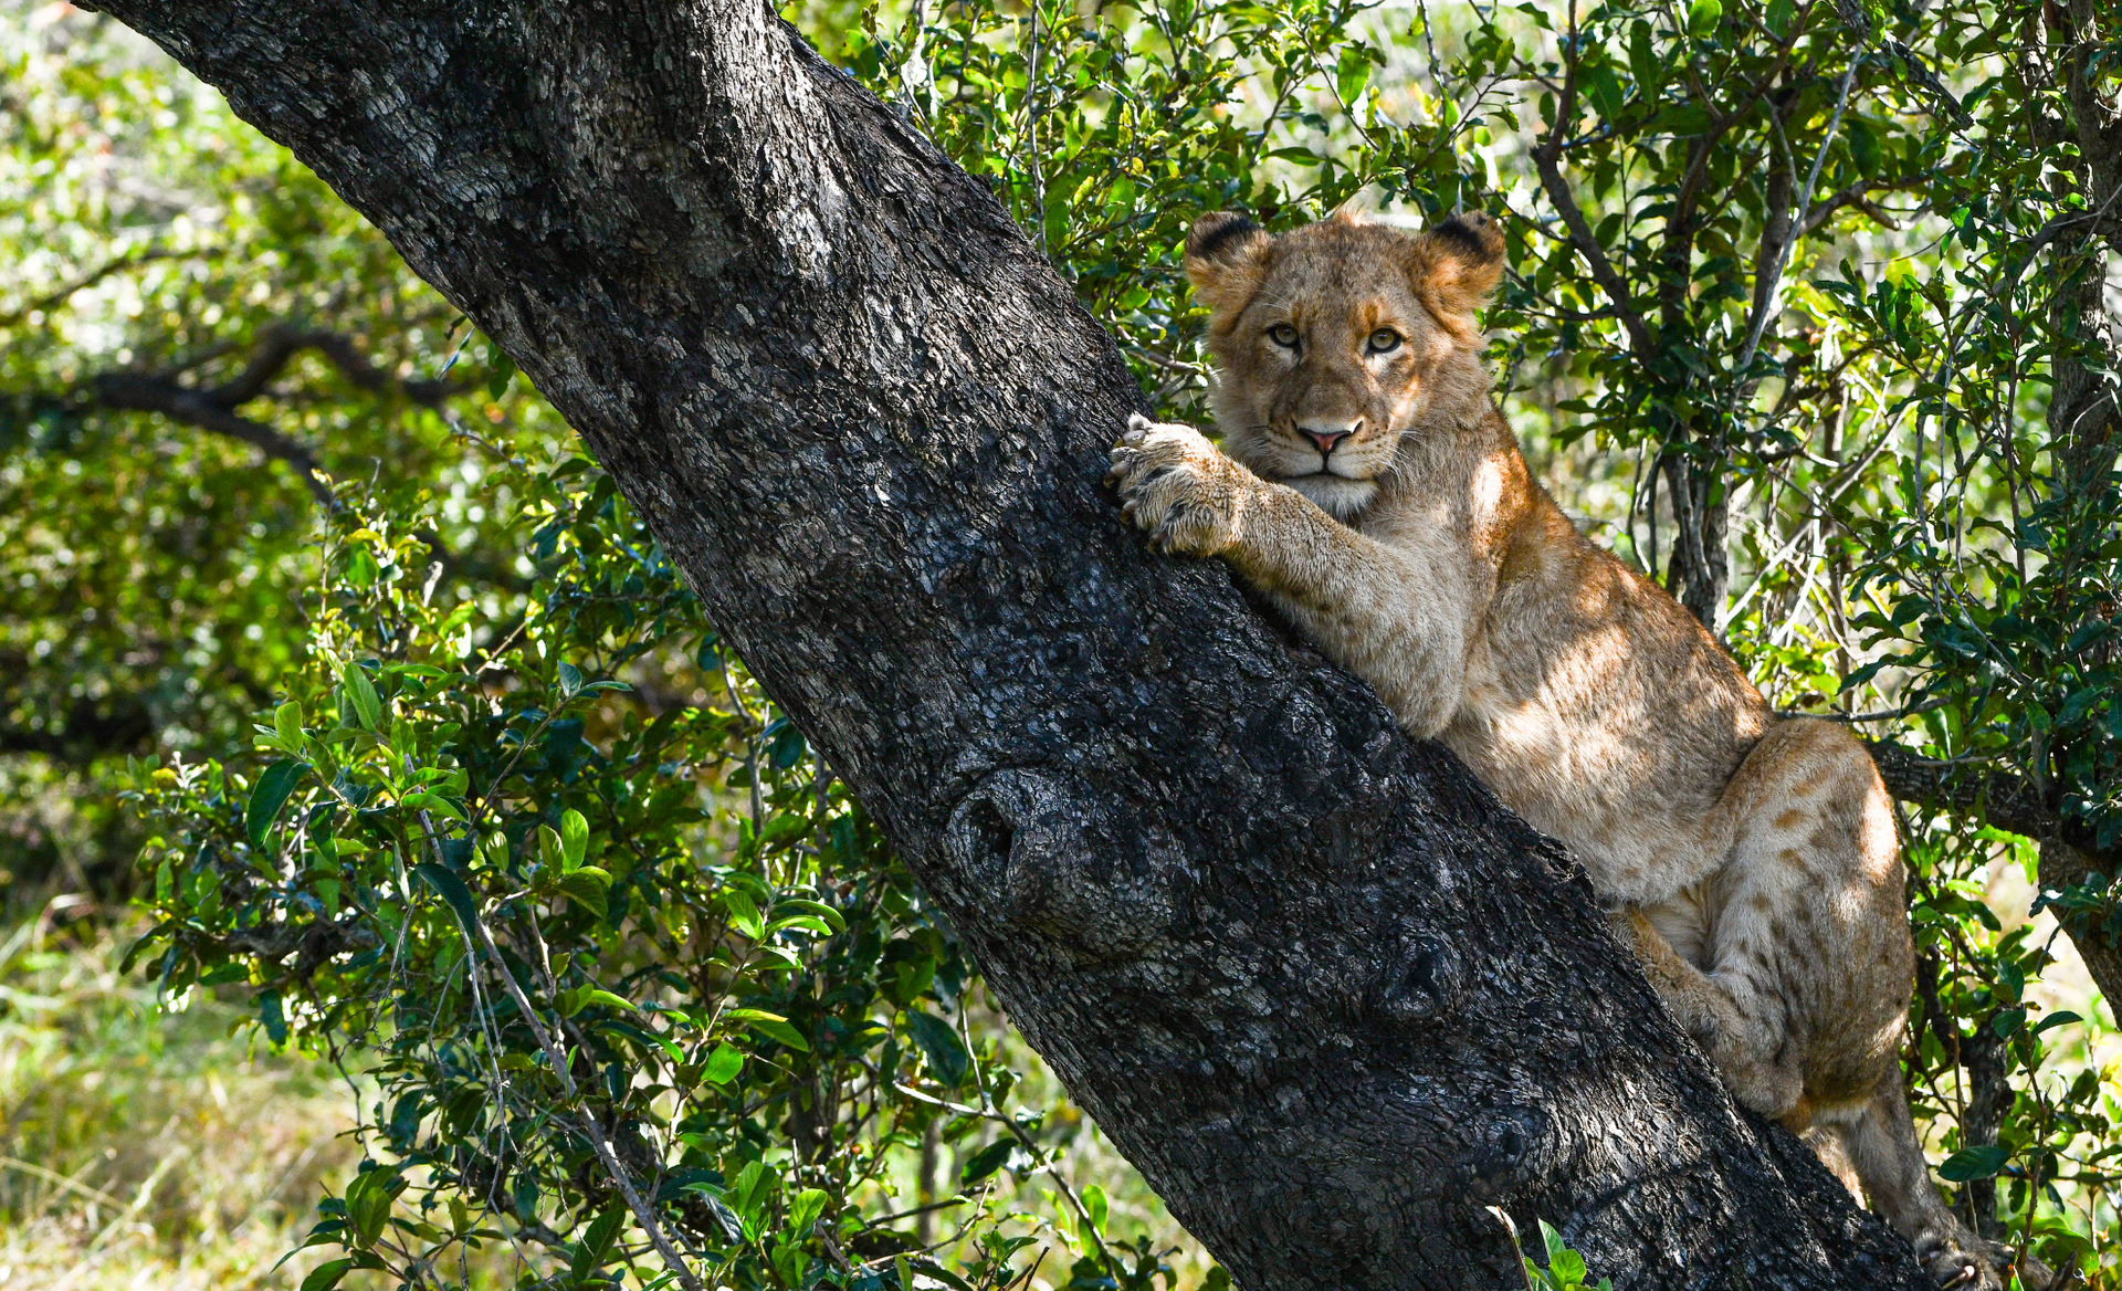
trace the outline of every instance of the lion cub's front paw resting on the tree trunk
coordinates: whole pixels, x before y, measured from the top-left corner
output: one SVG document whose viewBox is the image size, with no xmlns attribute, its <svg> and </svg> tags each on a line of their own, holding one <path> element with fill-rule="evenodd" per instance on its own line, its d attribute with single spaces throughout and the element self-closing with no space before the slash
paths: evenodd
<svg viewBox="0 0 2122 1291">
<path fill-rule="evenodd" d="M 1148 531 L 1159 552 L 1214 556 L 1237 541 L 1243 467 L 1193 427 L 1127 418 L 1106 482 L 1120 495 L 1120 514 Z"/>
</svg>

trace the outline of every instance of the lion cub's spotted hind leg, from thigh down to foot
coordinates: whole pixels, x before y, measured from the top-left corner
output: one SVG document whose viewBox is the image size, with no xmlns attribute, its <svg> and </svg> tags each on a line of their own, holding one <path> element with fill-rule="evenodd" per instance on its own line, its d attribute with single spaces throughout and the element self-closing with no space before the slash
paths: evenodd
<svg viewBox="0 0 2122 1291">
<path fill-rule="evenodd" d="M 1712 1019 L 1710 1057 L 1746 1106 L 1819 1123 L 1823 1161 L 1861 1181 L 1940 1285 L 1997 1291 L 2003 1251 L 1937 1198 L 1901 1087 L 1914 947 L 1878 769 L 1842 726 L 1793 718 L 1746 756 L 1719 813 L 1732 849 L 1702 902 L 1702 981 L 1681 992 Z M 1653 983 L 1674 975 L 1653 968 Z"/>
</svg>

